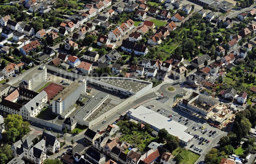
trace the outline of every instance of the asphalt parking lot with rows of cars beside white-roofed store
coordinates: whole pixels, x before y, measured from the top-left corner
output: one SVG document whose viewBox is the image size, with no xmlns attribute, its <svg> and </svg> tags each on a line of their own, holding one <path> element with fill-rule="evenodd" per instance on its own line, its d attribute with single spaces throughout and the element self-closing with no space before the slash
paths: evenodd
<svg viewBox="0 0 256 164">
<path fill-rule="evenodd" d="M 153 110 L 155 110 L 156 112 L 157 112 L 157 110 L 159 110 L 158 111 L 158 113 L 160 113 L 161 114 L 161 112 L 162 111 L 164 111 L 166 108 L 159 108 L 159 107 L 157 107 L 156 105 L 155 105 L 155 107 L 154 107 L 154 109 Z M 213 146 L 213 144 L 211 143 L 213 140 L 214 140 L 214 138 L 216 137 L 216 136 L 218 136 L 218 135 L 220 135 L 220 133 L 223 133 L 222 131 L 220 131 L 219 129 L 217 129 L 217 128 L 214 128 L 214 127 L 211 127 L 209 124 L 207 124 L 207 123 L 201 123 L 201 122 L 199 122 L 199 121 L 196 121 L 194 118 L 193 118 L 193 120 L 191 120 L 192 118 L 191 118 L 191 116 L 188 116 L 186 113 L 184 113 L 184 114 L 182 114 L 182 113 L 177 113 L 175 110 L 169 110 L 169 109 L 167 109 L 166 111 L 164 111 L 163 113 L 162 113 L 162 115 L 163 116 L 165 116 L 165 117 L 168 117 L 168 116 L 170 116 L 170 115 L 172 115 L 172 116 L 174 116 L 174 117 L 170 117 L 170 119 L 173 119 L 174 121 L 177 121 L 177 122 L 179 122 L 179 120 L 181 120 L 179 123 L 180 124 L 183 124 L 183 125 L 185 125 L 186 123 L 186 125 L 185 126 L 187 126 L 188 127 L 188 130 L 187 130 L 187 132 L 191 132 L 192 134 L 191 135 L 198 135 L 199 137 L 197 137 L 197 138 L 193 138 L 193 140 L 191 141 L 191 143 L 188 145 L 188 146 L 186 146 L 186 148 L 188 148 L 188 149 L 190 149 L 190 150 L 193 150 L 193 151 L 196 151 L 196 150 L 194 150 L 194 148 L 195 147 L 200 147 L 200 149 L 202 149 L 202 152 L 200 152 L 201 154 L 204 152 L 204 150 L 210 145 L 210 146 Z M 182 118 L 180 119 L 180 117 L 182 116 Z M 187 118 L 187 119 L 189 119 L 188 121 L 186 121 L 186 120 L 184 120 L 184 118 Z M 206 131 L 206 129 L 209 129 L 205 134 L 202 134 L 202 129 L 200 129 L 200 127 L 201 126 L 204 126 L 205 127 L 205 129 L 204 129 L 204 131 Z M 193 127 L 195 127 L 195 128 L 193 128 Z M 209 137 L 209 135 L 211 134 L 211 133 L 209 133 L 210 131 L 216 131 L 216 133 L 214 134 L 214 135 L 212 135 L 212 136 L 210 136 Z M 199 145 L 199 143 L 200 143 L 200 137 L 203 137 L 204 138 L 204 140 L 206 140 L 207 139 L 207 141 L 209 140 L 209 143 L 206 143 L 205 142 L 205 144 L 200 144 Z M 193 147 L 190 147 L 191 145 L 193 145 L 194 144 L 194 146 Z M 199 153 L 199 152 L 198 152 Z"/>
</svg>

